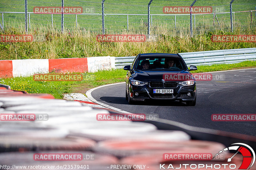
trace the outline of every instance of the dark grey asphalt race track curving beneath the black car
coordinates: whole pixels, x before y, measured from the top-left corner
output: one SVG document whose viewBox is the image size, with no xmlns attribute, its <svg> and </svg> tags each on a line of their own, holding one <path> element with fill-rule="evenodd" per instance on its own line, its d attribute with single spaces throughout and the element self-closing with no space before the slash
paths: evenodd
<svg viewBox="0 0 256 170">
<path fill-rule="evenodd" d="M 91 94 L 101 103 L 131 113 L 154 113 L 159 118 L 191 126 L 256 136 L 255 121 L 211 120 L 212 114 L 256 114 L 256 68 L 211 74 L 211 81 L 196 81 L 196 106 L 167 100 L 129 105 L 125 100 L 124 83 L 95 89 Z"/>
</svg>

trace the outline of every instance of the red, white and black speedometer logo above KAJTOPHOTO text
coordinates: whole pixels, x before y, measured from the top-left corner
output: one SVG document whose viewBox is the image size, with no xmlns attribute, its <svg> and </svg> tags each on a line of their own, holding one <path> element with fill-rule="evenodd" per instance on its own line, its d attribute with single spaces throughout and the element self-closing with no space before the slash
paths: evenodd
<svg viewBox="0 0 256 170">
<path fill-rule="evenodd" d="M 238 169 L 250 169 L 252 167 L 252 165 L 255 162 L 255 152 L 253 151 L 253 149 L 246 144 L 243 143 L 235 143 L 235 144 L 231 144 L 229 147 L 224 148 L 223 150 L 219 151 L 213 158 L 215 158 L 217 155 L 219 155 L 221 152 L 225 152 L 228 150 L 235 150 L 235 154 L 228 158 L 228 162 L 232 161 L 232 158 L 234 156 L 236 156 L 236 154 L 238 152 L 240 152 L 243 156 L 243 162 L 241 164 L 241 166 Z M 250 166 L 251 165 L 251 166 Z"/>
</svg>

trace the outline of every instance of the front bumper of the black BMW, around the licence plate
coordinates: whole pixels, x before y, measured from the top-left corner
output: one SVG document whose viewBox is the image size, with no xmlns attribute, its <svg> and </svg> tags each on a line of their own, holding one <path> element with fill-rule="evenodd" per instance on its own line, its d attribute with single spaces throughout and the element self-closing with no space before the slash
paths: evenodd
<svg viewBox="0 0 256 170">
<path fill-rule="evenodd" d="M 153 93 L 154 89 L 173 89 L 173 94 L 156 94 Z M 129 84 L 129 91 L 130 96 L 134 101 L 144 101 L 145 99 L 191 101 L 195 100 L 196 82 L 192 86 L 178 84 L 174 88 L 152 88 L 149 84 L 144 86 L 134 86 Z M 187 96 L 188 92 L 192 95 Z M 138 93 L 138 96 L 136 96 L 135 93 Z"/>
</svg>

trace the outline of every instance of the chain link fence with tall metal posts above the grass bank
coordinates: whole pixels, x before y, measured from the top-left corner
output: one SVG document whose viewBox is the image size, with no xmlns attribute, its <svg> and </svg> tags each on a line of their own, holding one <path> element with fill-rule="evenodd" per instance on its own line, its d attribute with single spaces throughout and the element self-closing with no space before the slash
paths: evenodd
<svg viewBox="0 0 256 170">
<path fill-rule="evenodd" d="M 80 10 L 79 10 L 80 9 Z M 1 0 L 1 28 L 85 30 L 99 34 L 250 34 L 255 0 Z"/>
</svg>

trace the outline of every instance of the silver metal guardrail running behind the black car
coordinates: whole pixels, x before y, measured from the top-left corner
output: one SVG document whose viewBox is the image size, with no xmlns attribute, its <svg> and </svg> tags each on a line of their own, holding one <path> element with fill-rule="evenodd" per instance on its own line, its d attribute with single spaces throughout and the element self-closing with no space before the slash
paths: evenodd
<svg viewBox="0 0 256 170">
<path fill-rule="evenodd" d="M 240 48 L 230 50 L 200 51 L 179 53 L 187 65 L 233 64 L 246 60 L 256 60 L 256 48 Z M 115 57 L 115 67 L 123 68 L 132 65 L 136 56 Z"/>
</svg>

